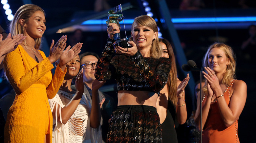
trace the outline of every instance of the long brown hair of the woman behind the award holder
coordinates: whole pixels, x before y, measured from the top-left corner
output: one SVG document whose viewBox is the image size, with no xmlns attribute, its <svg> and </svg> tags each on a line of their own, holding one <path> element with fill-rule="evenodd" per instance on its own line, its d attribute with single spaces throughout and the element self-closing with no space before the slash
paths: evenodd
<svg viewBox="0 0 256 143">
<path fill-rule="evenodd" d="M 177 105 L 178 98 L 177 98 L 177 67 L 175 62 L 175 56 L 173 52 L 172 45 L 170 42 L 166 39 L 159 38 L 159 42 L 163 42 L 167 47 L 167 53 L 169 55 L 169 58 L 172 61 L 171 70 L 168 76 L 167 81 L 167 88 L 168 88 L 168 95 L 171 99 L 171 102 L 174 106 Z"/>
</svg>

